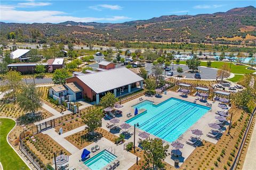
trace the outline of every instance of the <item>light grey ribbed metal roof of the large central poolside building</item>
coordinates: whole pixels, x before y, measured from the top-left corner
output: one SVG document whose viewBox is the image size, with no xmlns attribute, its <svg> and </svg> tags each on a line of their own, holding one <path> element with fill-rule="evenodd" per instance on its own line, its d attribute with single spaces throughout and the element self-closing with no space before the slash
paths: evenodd
<svg viewBox="0 0 256 170">
<path fill-rule="evenodd" d="M 77 78 L 89 86 L 96 94 L 144 80 L 131 70 L 126 69 L 126 67 L 78 75 Z"/>
</svg>

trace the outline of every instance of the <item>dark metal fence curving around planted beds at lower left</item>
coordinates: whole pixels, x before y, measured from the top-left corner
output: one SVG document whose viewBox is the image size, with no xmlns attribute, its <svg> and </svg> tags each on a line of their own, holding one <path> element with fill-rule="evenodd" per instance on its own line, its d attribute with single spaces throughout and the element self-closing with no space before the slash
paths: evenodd
<svg viewBox="0 0 256 170">
<path fill-rule="evenodd" d="M 67 123 L 75 120 L 76 118 L 81 117 L 81 115 L 64 115 L 58 118 L 54 118 L 50 121 L 46 121 L 34 126 L 31 126 L 20 133 L 20 151 L 28 158 L 31 164 L 35 166 L 38 170 L 51 170 L 52 167 L 50 165 L 44 165 L 43 162 L 33 153 L 32 150 L 26 145 L 26 138 L 30 138 L 31 135 L 38 134 L 47 129 L 54 128 L 55 126 L 61 125 L 63 123 Z"/>
</svg>

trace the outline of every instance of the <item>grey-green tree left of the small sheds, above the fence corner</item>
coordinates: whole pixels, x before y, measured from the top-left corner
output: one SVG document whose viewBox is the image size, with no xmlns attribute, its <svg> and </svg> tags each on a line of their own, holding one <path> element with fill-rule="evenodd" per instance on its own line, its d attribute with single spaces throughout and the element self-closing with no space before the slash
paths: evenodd
<svg viewBox="0 0 256 170">
<path fill-rule="evenodd" d="M 19 106 L 27 112 L 35 112 L 42 106 L 40 92 L 36 89 L 35 84 L 31 83 L 21 88 L 21 93 L 17 97 Z"/>
</svg>

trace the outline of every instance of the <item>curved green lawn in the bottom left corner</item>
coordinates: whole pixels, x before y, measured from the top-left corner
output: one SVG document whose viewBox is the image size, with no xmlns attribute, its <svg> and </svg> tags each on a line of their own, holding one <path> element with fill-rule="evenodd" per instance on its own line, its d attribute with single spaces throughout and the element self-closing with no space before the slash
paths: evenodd
<svg viewBox="0 0 256 170">
<path fill-rule="evenodd" d="M 4 169 L 28 169 L 23 160 L 16 154 L 12 147 L 7 143 L 6 136 L 15 126 L 15 122 L 9 118 L 0 118 L 0 162 Z"/>
</svg>

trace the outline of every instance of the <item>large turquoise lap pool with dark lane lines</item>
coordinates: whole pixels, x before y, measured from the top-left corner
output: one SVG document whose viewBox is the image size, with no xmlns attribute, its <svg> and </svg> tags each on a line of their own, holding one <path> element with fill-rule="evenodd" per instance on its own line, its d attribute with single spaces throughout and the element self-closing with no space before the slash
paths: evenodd
<svg viewBox="0 0 256 170">
<path fill-rule="evenodd" d="M 146 111 L 127 120 L 126 123 L 139 123 L 139 129 L 169 142 L 175 141 L 211 109 L 177 98 L 167 99 L 158 105 L 145 100 L 133 106 L 135 107 Z"/>
</svg>

